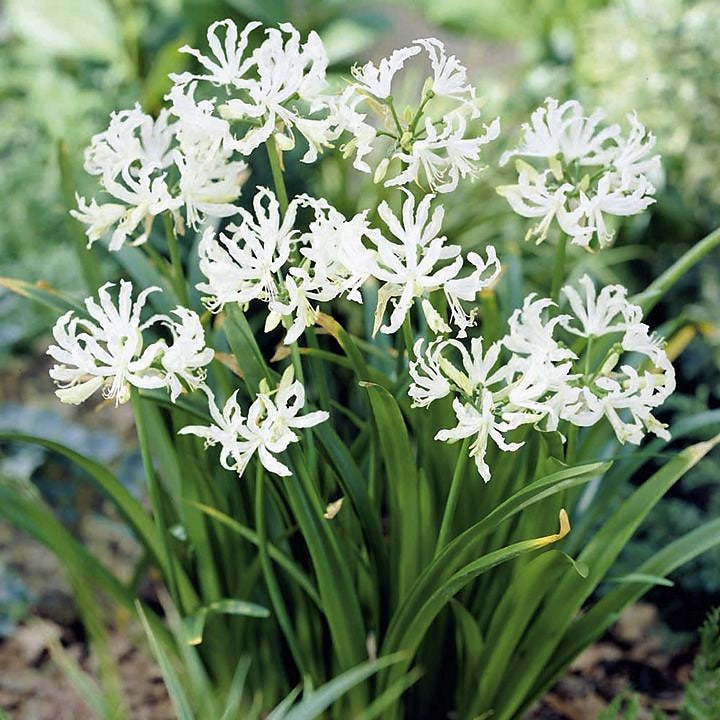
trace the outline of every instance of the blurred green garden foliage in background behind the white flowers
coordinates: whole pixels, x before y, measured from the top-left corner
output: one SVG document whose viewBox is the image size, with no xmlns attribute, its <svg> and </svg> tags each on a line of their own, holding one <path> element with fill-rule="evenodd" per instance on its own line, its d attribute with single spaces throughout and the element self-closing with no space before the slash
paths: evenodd
<svg viewBox="0 0 720 720">
<path fill-rule="evenodd" d="M 508 282 L 522 276 L 539 281 L 546 270 L 534 247 L 523 243 L 525 221 L 513 216 L 494 191 L 508 181 L 497 159 L 547 95 L 576 97 L 588 111 L 602 106 L 611 121 L 637 111 L 657 135 L 663 156 L 657 203 L 619 227 L 610 250 L 574 253 L 573 274 L 590 269 L 605 282 L 641 290 L 720 222 L 716 0 L 6 0 L 0 8 L 0 276 L 48 283 L 78 297 L 87 294 L 77 259 L 82 231 L 67 214 L 75 190 L 93 194 L 92 182 L 81 172 L 83 148 L 113 109 L 140 98 L 144 110 L 156 112 L 169 88 L 168 73 L 181 70 L 187 60 L 177 48 L 186 42 L 202 46 L 207 26 L 224 17 L 238 23 L 289 20 L 303 33 L 316 29 L 333 72 L 341 75 L 350 62 L 378 57 L 415 37 L 433 34 L 445 40 L 466 62 L 485 98 L 485 119 L 499 114 L 503 128 L 501 139 L 485 152 L 488 168 L 482 177 L 448 198 L 448 234 L 468 247 L 495 243 L 508 260 Z M 329 153 L 303 168 L 305 175 L 296 182 L 343 210 L 373 202 L 338 182 L 341 167 Z M 94 252 L 102 250 L 96 246 Z M 103 262 L 109 277 L 118 272 L 112 258 L 105 255 Z M 706 260 L 650 319 L 682 350 L 670 417 L 718 407 L 719 263 L 717 255 Z M 103 461 L 123 464 L 122 476 L 135 483 L 136 458 L 123 450 L 122 423 L 89 429 L 95 419 L 69 418 L 52 409 L 43 352 L 53 319 L 0 287 L 0 425 L 42 427 L 49 435 L 75 433 L 74 441 L 86 452 L 90 448 Z M 71 470 L 58 470 L 38 450 L 6 450 L 0 462 L 6 478 L 64 473 L 64 494 L 48 499 L 64 506 L 68 522 L 79 528 L 76 515 L 92 512 L 93 504 L 78 501 L 68 480 Z M 649 554 L 648 548 L 715 516 L 719 477 L 717 457 L 701 463 L 652 515 L 628 551 L 628 566 Z M 50 495 L 52 488 L 57 491 L 57 483 L 46 487 Z M 720 601 L 720 553 L 686 566 L 675 580 L 674 588 L 658 588 L 651 598 L 671 627 L 694 630 L 707 608 Z M 0 592 L 2 635 L 31 611 L 34 600 L 2 556 L 0 586 L 7 595 Z"/>
</svg>

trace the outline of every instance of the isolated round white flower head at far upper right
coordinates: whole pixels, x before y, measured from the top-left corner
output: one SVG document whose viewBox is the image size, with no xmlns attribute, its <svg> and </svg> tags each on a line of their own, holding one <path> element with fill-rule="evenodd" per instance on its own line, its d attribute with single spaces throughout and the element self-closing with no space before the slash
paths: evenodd
<svg viewBox="0 0 720 720">
<path fill-rule="evenodd" d="M 599 247 L 613 240 L 606 216 L 636 215 L 655 202 L 649 177 L 660 169 L 660 156 L 650 155 L 655 137 L 634 114 L 627 116 L 627 136 L 619 125 L 599 129 L 604 117 L 589 117 L 575 100 L 559 104 L 547 98 L 523 125 L 523 141 L 500 158 L 542 163 L 538 168 L 517 160 L 518 181 L 497 190 L 513 210 L 540 218 L 527 237 L 542 242 L 553 222 L 571 241 L 584 248 L 597 238 Z"/>
</svg>

